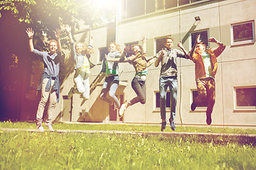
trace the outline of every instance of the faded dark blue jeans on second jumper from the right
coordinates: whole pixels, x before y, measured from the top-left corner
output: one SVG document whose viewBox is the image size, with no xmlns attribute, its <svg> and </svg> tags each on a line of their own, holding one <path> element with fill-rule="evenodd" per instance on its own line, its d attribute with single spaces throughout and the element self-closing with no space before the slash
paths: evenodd
<svg viewBox="0 0 256 170">
<path fill-rule="evenodd" d="M 160 77 L 159 78 L 159 93 L 160 93 L 160 112 L 161 119 L 166 119 L 166 94 L 167 88 L 170 89 L 171 99 L 171 121 L 174 121 L 177 101 L 177 77 Z"/>
</svg>

